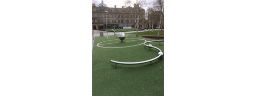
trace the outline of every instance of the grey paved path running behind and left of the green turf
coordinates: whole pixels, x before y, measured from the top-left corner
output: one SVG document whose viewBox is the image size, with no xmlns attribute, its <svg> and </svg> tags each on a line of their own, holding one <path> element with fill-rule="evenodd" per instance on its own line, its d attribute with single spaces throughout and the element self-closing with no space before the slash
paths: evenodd
<svg viewBox="0 0 256 96">
<path fill-rule="evenodd" d="M 155 29 L 155 30 L 158 30 L 158 29 Z M 144 32 L 144 31 L 148 31 L 148 30 L 142 30 L 142 31 L 138 31 L 138 32 Z M 134 32 L 136 32 L 136 31 L 129 31 L 126 33 L 134 33 Z M 94 34 L 92 34 L 92 49 L 93 49 L 95 37 L 100 36 L 100 30 L 93 30 L 93 33 Z M 118 35 L 118 32 L 117 32 L 117 35 Z M 107 36 L 107 31 L 103 31 L 103 36 Z M 108 36 L 114 36 L 114 32 L 108 32 Z"/>
</svg>

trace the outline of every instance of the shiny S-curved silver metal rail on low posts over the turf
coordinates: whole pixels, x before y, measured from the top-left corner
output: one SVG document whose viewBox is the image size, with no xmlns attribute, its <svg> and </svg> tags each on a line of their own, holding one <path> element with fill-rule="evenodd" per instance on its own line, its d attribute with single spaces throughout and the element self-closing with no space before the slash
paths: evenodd
<svg viewBox="0 0 256 96">
<path fill-rule="evenodd" d="M 147 46 L 147 47 L 149 47 L 148 45 L 146 45 L 146 43 L 148 43 L 148 42 L 159 42 L 159 45 L 160 45 L 160 42 L 163 42 L 163 41 L 162 40 L 147 41 L 147 42 L 144 43 L 144 45 Z M 156 48 L 156 47 L 151 46 L 149 48 Z M 156 48 L 156 49 L 158 50 L 158 56 L 156 58 L 153 58 L 153 59 L 150 59 L 150 60 L 144 60 L 144 61 L 139 61 L 139 62 L 120 62 L 120 61 L 114 61 L 114 60 L 110 60 L 110 61 L 115 63 L 115 67 L 117 66 L 117 64 L 129 64 L 129 65 L 132 65 L 132 64 L 142 64 L 142 63 L 146 63 L 146 62 L 150 62 L 150 64 L 151 64 L 151 61 L 156 60 L 159 57 L 163 56 L 163 52 L 159 48 Z"/>
</svg>

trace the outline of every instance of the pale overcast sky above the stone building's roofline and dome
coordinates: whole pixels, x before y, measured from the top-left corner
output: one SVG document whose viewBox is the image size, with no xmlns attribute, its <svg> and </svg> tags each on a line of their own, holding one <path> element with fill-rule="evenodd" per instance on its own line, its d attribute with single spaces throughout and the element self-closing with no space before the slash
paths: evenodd
<svg viewBox="0 0 256 96">
<path fill-rule="evenodd" d="M 152 0 L 148 0 L 151 2 Z M 103 0 L 103 3 L 107 4 L 108 7 L 113 7 L 116 5 L 116 8 L 122 8 L 124 5 L 125 0 Z M 101 0 L 92 0 L 92 3 L 95 4 L 95 6 L 98 7 L 98 5 L 101 3 Z M 133 7 L 133 6 L 132 6 Z M 143 9 L 147 10 L 147 8 L 150 7 L 150 5 L 143 5 Z"/>
</svg>

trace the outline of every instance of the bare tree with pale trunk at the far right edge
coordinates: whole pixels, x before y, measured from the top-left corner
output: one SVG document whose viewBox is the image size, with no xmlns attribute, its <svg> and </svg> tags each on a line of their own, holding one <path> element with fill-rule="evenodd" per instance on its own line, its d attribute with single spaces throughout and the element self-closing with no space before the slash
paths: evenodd
<svg viewBox="0 0 256 96">
<path fill-rule="evenodd" d="M 158 27 L 161 27 L 162 18 L 164 16 L 164 0 L 154 0 L 154 5 L 153 6 L 157 10 L 157 13 L 160 16 L 160 22 L 159 22 Z M 159 30 L 160 30 L 160 28 L 158 28 L 157 39 L 159 37 Z"/>
</svg>

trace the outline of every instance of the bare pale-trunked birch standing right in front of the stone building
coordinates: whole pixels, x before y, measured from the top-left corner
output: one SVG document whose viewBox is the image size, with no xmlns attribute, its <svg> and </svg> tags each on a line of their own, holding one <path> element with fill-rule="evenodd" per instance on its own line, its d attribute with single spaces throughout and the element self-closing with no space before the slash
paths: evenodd
<svg viewBox="0 0 256 96">
<path fill-rule="evenodd" d="M 127 8 L 127 11 L 130 13 L 131 18 L 134 20 L 134 23 L 136 25 L 136 36 L 138 36 L 138 25 L 139 25 L 139 20 L 142 21 L 143 15 L 143 10 L 142 6 L 146 4 L 147 0 L 126 0 L 124 3 L 124 7 Z M 129 8 L 134 4 L 133 8 Z"/>
</svg>

